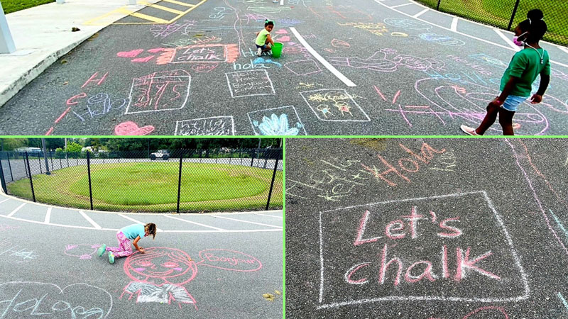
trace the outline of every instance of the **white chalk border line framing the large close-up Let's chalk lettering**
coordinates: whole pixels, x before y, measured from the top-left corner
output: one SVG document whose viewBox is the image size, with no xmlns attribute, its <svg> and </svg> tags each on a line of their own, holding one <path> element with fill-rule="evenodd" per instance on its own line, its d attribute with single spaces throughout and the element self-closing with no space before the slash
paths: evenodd
<svg viewBox="0 0 568 319">
<path fill-rule="evenodd" d="M 515 261 L 515 266 L 517 266 L 518 271 L 520 273 L 522 284 L 525 288 L 525 293 L 522 296 L 517 297 L 508 297 L 508 298 L 464 298 L 464 297 L 442 297 L 442 296 L 386 296 L 386 297 L 379 297 L 379 298 L 366 298 L 366 299 L 359 299 L 353 301 L 342 301 L 338 303 L 323 303 L 323 295 L 324 295 L 324 255 L 323 255 L 323 237 L 322 237 L 322 213 L 328 213 L 330 211 L 340 211 L 344 209 L 351 209 L 356 207 L 362 206 L 371 206 L 371 205 L 378 205 L 378 204 L 386 204 L 386 203 L 403 203 L 405 201 L 422 201 L 426 199 L 437 199 L 437 198 L 447 198 L 447 197 L 459 197 L 459 196 L 466 196 L 472 194 L 483 194 L 484 199 L 487 203 L 487 206 L 493 212 L 496 220 L 498 221 L 501 228 L 503 228 L 503 234 L 507 239 L 507 243 L 509 244 L 510 252 L 513 254 L 513 260 Z M 322 308 L 334 308 L 340 306 L 351 306 L 361 303 L 373 303 L 376 301 L 466 301 L 466 302 L 481 302 L 481 303 L 501 303 L 506 301 L 513 301 L 518 302 L 525 299 L 528 299 L 530 296 L 530 288 L 528 286 L 528 279 L 527 274 L 525 274 L 525 270 L 523 269 L 523 265 L 520 264 L 520 259 L 518 257 L 517 251 L 515 247 L 513 247 L 513 239 L 510 237 L 505 225 L 503 224 L 503 220 L 501 216 L 497 213 L 493 203 L 489 196 L 487 196 L 486 191 L 470 191 L 464 193 L 454 193 L 454 194 L 447 194 L 447 195 L 437 195 L 437 196 L 427 196 L 427 197 L 419 197 L 419 198 L 406 198 L 406 199 L 397 199 L 393 201 L 380 201 L 376 203 L 367 203 L 363 205 L 356 205 L 356 206 L 349 206 L 349 207 L 342 207 L 342 208 L 334 208 L 329 211 L 320 211 L 320 265 L 321 265 L 321 273 L 320 273 L 320 306 L 317 306 L 317 309 Z"/>
</svg>

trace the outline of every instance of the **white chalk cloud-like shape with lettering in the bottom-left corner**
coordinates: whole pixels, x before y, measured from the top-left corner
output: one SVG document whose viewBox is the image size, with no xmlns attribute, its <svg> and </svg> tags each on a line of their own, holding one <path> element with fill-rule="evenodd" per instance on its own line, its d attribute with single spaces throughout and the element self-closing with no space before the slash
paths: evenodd
<svg viewBox="0 0 568 319">
<path fill-rule="evenodd" d="M 0 284 L 1 318 L 107 318 L 111 294 L 89 284 L 55 284 L 11 281 Z"/>
</svg>

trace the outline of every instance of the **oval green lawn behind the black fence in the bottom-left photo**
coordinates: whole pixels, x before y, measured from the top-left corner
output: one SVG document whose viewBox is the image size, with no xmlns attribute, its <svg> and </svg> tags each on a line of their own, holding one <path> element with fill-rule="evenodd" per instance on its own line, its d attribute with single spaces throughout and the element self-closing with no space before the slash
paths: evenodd
<svg viewBox="0 0 568 319">
<path fill-rule="evenodd" d="M 93 208 L 102 211 L 176 211 L 177 162 L 92 164 Z M 266 208 L 273 170 L 230 164 L 183 163 L 180 211 L 237 211 Z M 277 172 L 271 206 L 282 206 L 282 172 Z M 32 198 L 29 179 L 7 185 L 9 193 Z M 85 165 L 34 175 L 40 203 L 89 209 Z"/>
</svg>

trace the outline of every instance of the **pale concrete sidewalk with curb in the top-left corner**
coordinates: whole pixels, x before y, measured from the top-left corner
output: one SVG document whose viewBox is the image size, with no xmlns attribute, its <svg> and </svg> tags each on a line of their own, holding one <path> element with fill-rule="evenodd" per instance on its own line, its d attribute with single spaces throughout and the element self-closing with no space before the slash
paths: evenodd
<svg viewBox="0 0 568 319">
<path fill-rule="evenodd" d="M 126 16 L 116 9 L 138 11 L 145 7 L 127 4 L 127 0 L 66 0 L 65 4 L 53 2 L 6 15 L 16 51 L 0 55 L 0 107 L 58 58 Z M 103 15 L 107 16 L 97 20 L 97 25 L 84 24 Z M 80 30 L 72 32 L 73 27 Z"/>
</svg>

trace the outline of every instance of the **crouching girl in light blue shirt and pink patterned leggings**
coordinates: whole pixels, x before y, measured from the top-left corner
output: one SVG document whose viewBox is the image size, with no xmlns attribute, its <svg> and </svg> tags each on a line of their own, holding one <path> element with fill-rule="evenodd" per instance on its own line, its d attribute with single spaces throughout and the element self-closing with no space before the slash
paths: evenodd
<svg viewBox="0 0 568 319">
<path fill-rule="evenodd" d="M 143 254 L 144 249 L 138 246 L 138 241 L 148 235 L 152 235 L 152 239 L 155 239 L 155 230 L 156 227 L 154 223 L 147 223 L 146 225 L 133 224 L 123 227 L 116 233 L 116 239 L 119 240 L 119 247 L 107 247 L 107 245 L 103 244 L 99 247 L 97 254 L 99 257 L 102 257 L 104 252 L 109 252 L 109 262 L 114 264 L 114 257 L 126 257 L 133 254 L 130 246 L 131 240 L 134 240 L 132 242 L 134 248 Z"/>
</svg>

